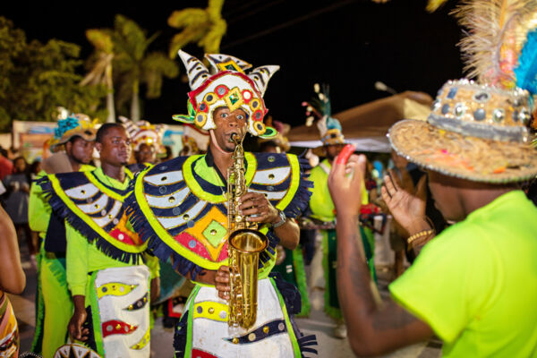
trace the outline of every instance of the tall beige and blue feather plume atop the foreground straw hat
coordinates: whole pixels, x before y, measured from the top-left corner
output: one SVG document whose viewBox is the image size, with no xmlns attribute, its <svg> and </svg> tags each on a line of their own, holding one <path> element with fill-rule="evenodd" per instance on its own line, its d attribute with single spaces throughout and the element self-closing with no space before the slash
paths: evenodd
<svg viewBox="0 0 537 358">
<path fill-rule="evenodd" d="M 469 76 L 506 90 L 536 91 L 537 0 L 472 0 L 453 12 Z"/>
</svg>

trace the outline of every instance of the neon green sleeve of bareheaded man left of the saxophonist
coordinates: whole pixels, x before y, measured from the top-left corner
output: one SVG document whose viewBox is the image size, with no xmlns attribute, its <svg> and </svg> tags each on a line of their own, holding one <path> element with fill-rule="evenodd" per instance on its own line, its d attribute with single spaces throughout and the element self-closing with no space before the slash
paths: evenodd
<svg viewBox="0 0 537 358">
<path fill-rule="evenodd" d="M 84 236 L 65 222 L 67 251 L 65 253 L 67 285 L 71 294 L 86 295 L 88 282 L 88 246 L 90 243 Z"/>
</svg>

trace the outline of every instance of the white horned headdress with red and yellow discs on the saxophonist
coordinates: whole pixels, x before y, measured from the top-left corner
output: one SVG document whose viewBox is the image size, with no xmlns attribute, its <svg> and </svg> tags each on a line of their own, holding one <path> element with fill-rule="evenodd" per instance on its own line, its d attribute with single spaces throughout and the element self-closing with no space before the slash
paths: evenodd
<svg viewBox="0 0 537 358">
<path fill-rule="evenodd" d="M 189 78 L 191 92 L 188 97 L 189 115 L 174 115 L 174 119 L 210 130 L 216 128 L 213 113 L 217 107 L 228 107 L 230 111 L 241 108 L 248 115 L 248 132 L 253 136 L 270 138 L 276 130 L 266 127 L 263 118 L 268 110 L 263 101 L 268 80 L 279 66 L 266 65 L 251 70 L 251 64 L 231 55 L 207 54 L 215 74 L 196 57 L 179 50 Z"/>
</svg>

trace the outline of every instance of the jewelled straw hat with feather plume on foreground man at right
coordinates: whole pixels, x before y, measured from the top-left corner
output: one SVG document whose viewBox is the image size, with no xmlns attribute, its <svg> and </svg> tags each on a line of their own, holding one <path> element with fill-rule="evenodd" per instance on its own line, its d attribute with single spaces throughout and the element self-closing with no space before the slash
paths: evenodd
<svg viewBox="0 0 537 358">
<path fill-rule="evenodd" d="M 427 123 L 406 120 L 390 129 L 392 146 L 446 175 L 487 183 L 533 178 L 537 0 L 463 1 L 454 13 L 467 31 L 460 47 L 476 81 L 447 81 Z"/>
</svg>

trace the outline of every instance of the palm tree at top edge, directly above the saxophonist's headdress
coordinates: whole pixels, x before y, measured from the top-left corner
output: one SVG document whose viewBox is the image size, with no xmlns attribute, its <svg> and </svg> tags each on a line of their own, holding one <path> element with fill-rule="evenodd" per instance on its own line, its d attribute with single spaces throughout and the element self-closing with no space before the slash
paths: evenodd
<svg viewBox="0 0 537 358">
<path fill-rule="evenodd" d="M 222 18 L 224 0 L 209 0 L 206 9 L 186 8 L 175 11 L 168 18 L 168 25 L 183 29 L 170 43 L 170 58 L 175 58 L 177 50 L 189 43 L 197 42 L 206 54 L 220 52 L 220 42 L 226 34 L 226 20 Z"/>
</svg>

